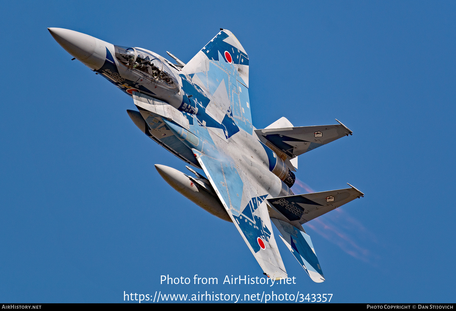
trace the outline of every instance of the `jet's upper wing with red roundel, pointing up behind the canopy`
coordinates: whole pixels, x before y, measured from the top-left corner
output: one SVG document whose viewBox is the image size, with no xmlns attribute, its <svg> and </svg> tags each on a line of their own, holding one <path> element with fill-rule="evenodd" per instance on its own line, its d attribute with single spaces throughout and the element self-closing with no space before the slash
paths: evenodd
<svg viewBox="0 0 456 311">
<path fill-rule="evenodd" d="M 238 128 L 252 134 L 249 56 L 231 31 L 221 29 L 182 68 L 181 77 L 184 89 L 187 80 L 198 89 L 186 95 L 204 107 L 198 116 L 204 126 L 224 130 L 227 138 Z"/>
</svg>

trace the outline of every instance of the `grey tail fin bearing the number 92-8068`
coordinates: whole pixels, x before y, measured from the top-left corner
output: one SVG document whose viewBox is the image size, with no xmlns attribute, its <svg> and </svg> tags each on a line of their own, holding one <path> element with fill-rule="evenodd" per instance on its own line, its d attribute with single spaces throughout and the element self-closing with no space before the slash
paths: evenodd
<svg viewBox="0 0 456 311">
<path fill-rule="evenodd" d="M 266 201 L 289 221 L 303 224 L 361 196 L 364 193 L 351 186 L 347 189 L 283 196 Z"/>
</svg>

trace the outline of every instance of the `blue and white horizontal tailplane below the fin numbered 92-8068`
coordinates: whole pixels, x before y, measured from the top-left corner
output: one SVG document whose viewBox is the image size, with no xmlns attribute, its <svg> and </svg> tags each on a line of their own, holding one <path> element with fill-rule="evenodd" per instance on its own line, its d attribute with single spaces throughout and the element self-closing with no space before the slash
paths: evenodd
<svg viewBox="0 0 456 311">
<path fill-rule="evenodd" d="M 311 237 L 288 222 L 271 218 L 271 221 L 279 229 L 282 241 L 295 256 L 301 266 L 306 270 L 312 281 L 321 283 L 325 281 L 320 263 L 316 257 Z"/>
</svg>

